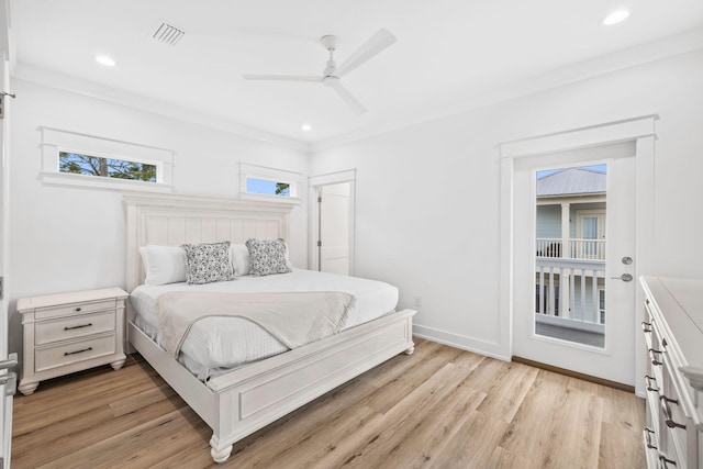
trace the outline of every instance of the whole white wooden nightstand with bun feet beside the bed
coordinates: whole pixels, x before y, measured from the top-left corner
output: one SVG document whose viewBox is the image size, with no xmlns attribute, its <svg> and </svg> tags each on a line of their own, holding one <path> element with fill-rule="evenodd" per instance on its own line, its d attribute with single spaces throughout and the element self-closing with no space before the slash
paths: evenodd
<svg viewBox="0 0 703 469">
<path fill-rule="evenodd" d="M 107 288 L 18 300 L 24 327 L 20 392 L 31 394 L 40 381 L 100 365 L 122 368 L 127 295 Z"/>
</svg>

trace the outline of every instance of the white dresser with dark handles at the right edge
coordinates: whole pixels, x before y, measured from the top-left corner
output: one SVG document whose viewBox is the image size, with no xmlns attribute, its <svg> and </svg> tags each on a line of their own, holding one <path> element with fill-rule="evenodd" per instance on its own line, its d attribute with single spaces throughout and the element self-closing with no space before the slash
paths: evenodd
<svg viewBox="0 0 703 469">
<path fill-rule="evenodd" d="M 648 468 L 703 469 L 703 279 L 643 277 Z"/>
</svg>

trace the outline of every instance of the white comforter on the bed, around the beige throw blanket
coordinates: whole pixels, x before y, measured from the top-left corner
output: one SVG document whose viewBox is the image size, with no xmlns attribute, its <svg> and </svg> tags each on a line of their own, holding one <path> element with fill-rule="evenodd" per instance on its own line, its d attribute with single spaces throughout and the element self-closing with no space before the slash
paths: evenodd
<svg viewBox="0 0 703 469">
<path fill-rule="evenodd" d="M 158 343 L 156 299 L 159 294 L 171 291 L 344 291 L 355 297 L 345 328 L 380 317 L 393 311 L 398 304 L 398 288 L 391 284 L 303 269 L 266 277 L 246 276 L 203 286 L 140 286 L 130 295 L 130 301 L 137 311 L 135 324 Z M 215 316 L 193 324 L 181 347 L 179 360 L 199 379 L 207 380 L 228 369 L 286 350 L 288 348 L 283 344 L 250 321 Z"/>
</svg>

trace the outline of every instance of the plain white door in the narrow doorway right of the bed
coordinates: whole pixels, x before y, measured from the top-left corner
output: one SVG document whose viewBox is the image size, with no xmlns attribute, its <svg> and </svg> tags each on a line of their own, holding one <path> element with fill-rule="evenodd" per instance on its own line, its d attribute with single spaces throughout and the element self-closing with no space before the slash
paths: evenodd
<svg viewBox="0 0 703 469">
<path fill-rule="evenodd" d="M 352 183 L 320 187 L 319 199 L 319 270 L 350 273 L 349 235 L 352 220 Z"/>
</svg>

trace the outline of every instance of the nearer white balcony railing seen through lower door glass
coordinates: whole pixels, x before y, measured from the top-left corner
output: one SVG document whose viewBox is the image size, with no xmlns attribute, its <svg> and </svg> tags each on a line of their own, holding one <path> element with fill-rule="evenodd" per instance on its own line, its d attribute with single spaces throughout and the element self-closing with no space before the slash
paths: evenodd
<svg viewBox="0 0 703 469">
<path fill-rule="evenodd" d="M 536 321 L 603 334 L 605 310 L 601 291 L 605 291 L 604 277 L 604 260 L 537 257 Z"/>
</svg>

